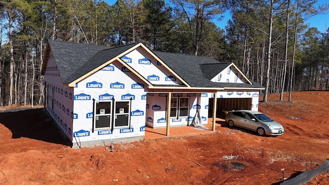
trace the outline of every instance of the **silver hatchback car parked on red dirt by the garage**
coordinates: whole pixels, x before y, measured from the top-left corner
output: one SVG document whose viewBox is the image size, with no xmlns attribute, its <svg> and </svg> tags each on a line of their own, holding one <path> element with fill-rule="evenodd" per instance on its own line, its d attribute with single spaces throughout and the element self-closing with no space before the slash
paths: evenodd
<svg viewBox="0 0 329 185">
<path fill-rule="evenodd" d="M 233 127 L 242 127 L 257 132 L 258 135 L 278 136 L 284 133 L 283 126 L 263 113 L 253 110 L 235 110 L 228 112 L 226 123 Z"/>
</svg>

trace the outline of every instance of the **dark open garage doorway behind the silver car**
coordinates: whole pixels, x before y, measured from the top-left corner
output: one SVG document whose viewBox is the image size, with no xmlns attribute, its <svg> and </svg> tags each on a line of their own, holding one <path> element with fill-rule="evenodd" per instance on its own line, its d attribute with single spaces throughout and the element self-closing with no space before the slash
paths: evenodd
<svg viewBox="0 0 329 185">
<path fill-rule="evenodd" d="M 225 119 L 223 110 L 251 110 L 252 98 L 217 98 L 216 118 Z M 208 117 L 212 117 L 214 99 L 209 98 Z"/>
</svg>

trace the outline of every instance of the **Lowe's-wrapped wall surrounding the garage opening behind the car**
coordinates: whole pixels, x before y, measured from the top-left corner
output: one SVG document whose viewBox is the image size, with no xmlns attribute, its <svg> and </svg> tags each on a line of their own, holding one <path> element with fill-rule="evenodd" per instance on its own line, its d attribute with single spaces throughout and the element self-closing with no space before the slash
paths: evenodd
<svg viewBox="0 0 329 185">
<path fill-rule="evenodd" d="M 251 110 L 258 111 L 259 90 L 217 91 L 217 98 L 252 98 Z M 229 107 L 228 107 L 229 108 Z M 217 110 L 221 111 L 221 110 Z"/>
</svg>

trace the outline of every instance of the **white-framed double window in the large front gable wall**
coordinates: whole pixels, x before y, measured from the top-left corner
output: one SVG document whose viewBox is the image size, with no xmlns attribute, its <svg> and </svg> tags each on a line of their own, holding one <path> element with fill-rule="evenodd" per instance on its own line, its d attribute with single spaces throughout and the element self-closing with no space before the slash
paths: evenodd
<svg viewBox="0 0 329 185">
<path fill-rule="evenodd" d="M 114 104 L 114 107 L 113 107 Z M 113 109 L 112 109 L 113 108 Z M 114 110 L 114 113 L 113 113 Z M 96 101 L 95 128 L 122 128 L 130 126 L 129 101 Z"/>
</svg>

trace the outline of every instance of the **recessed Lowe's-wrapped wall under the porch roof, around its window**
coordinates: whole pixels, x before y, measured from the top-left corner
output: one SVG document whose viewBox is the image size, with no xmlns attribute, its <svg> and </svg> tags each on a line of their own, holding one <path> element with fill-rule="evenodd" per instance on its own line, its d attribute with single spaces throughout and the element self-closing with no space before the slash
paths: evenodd
<svg viewBox="0 0 329 185">
<path fill-rule="evenodd" d="M 167 126 L 167 112 L 166 104 L 168 94 L 154 94 L 149 93 L 147 97 L 147 125 L 157 128 Z M 171 117 L 170 126 L 184 126 L 190 125 L 198 110 L 202 123 L 208 123 L 208 109 L 209 99 L 208 94 L 187 94 L 187 93 L 173 93 L 172 97 L 189 98 L 189 114 L 185 117 Z M 168 105 L 167 105 L 168 107 Z"/>
</svg>

